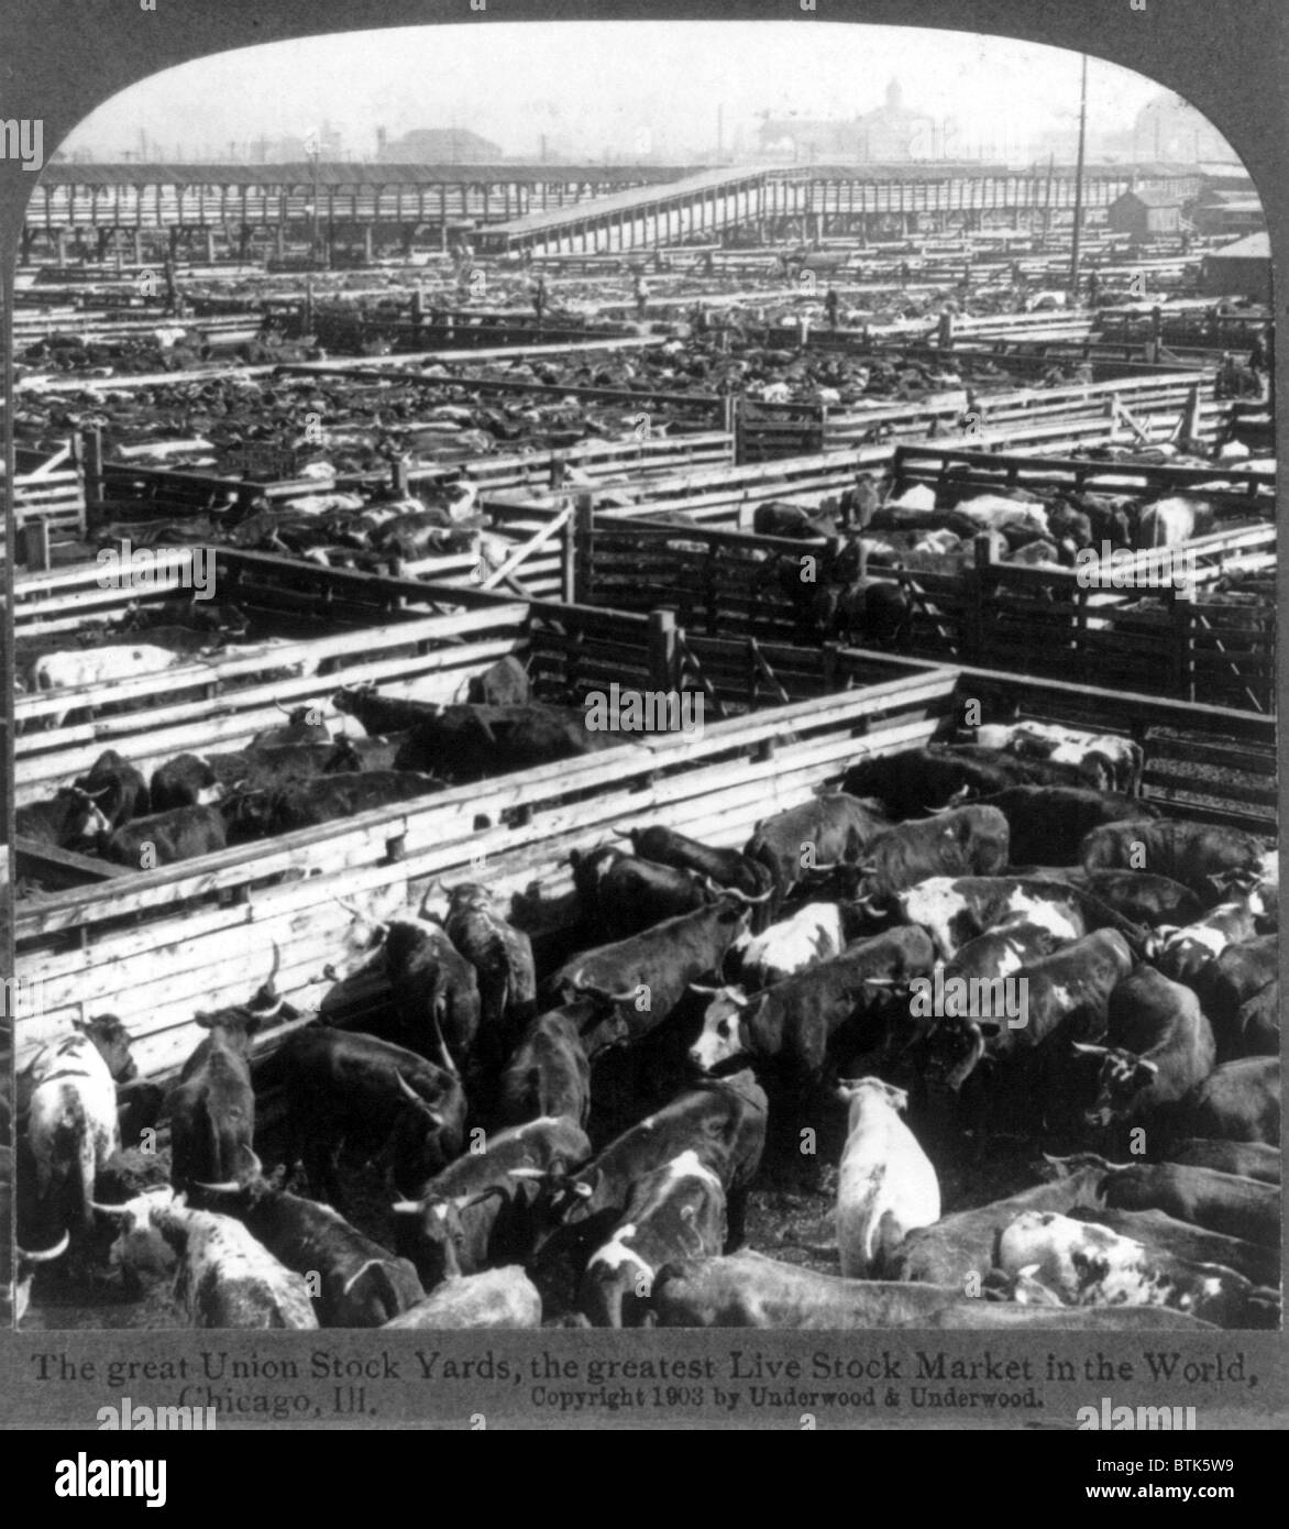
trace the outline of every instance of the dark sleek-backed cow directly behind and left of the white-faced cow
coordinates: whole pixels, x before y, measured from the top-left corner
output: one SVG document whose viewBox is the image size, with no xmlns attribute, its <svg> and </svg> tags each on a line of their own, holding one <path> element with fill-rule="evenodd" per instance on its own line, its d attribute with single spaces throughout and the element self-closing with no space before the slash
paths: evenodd
<svg viewBox="0 0 1289 1529">
<path fill-rule="evenodd" d="M 726 951 L 745 933 L 748 910 L 734 901 L 665 919 L 641 934 L 583 951 L 552 976 L 558 1001 L 584 995 L 610 1015 L 583 1034 L 589 1060 L 607 1046 L 639 1040 L 671 1014 L 691 983 L 722 969 Z"/>
</svg>

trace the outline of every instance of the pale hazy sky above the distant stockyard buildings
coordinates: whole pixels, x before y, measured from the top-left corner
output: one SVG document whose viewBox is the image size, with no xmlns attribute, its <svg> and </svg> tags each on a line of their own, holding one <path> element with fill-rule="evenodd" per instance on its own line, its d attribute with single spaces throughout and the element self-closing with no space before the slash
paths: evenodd
<svg viewBox="0 0 1289 1529">
<path fill-rule="evenodd" d="M 651 135 L 659 151 L 705 150 L 751 135 L 755 115 L 850 118 L 879 106 L 898 75 L 905 104 L 956 118 L 959 147 L 1018 147 L 1069 125 L 1078 57 L 966 32 L 827 21 L 569 21 L 398 28 L 239 49 L 154 75 L 106 102 L 66 148 L 98 157 L 177 144 L 222 157 L 261 135 L 303 136 L 324 118 L 355 157 L 378 125 L 469 127 L 508 154 L 546 133 L 590 151 L 628 151 Z M 1089 119 L 1124 128 L 1159 92 L 1141 75 L 1092 60 Z M 951 150 L 953 150 L 951 144 Z"/>
</svg>

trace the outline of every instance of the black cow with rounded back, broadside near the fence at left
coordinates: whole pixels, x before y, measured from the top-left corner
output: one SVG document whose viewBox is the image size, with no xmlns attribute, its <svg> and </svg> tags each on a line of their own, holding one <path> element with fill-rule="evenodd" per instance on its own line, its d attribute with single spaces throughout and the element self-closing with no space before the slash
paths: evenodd
<svg viewBox="0 0 1289 1529">
<path fill-rule="evenodd" d="M 287 1167 L 301 1156 L 310 1191 L 335 1203 L 341 1147 L 378 1157 L 414 1194 L 462 1145 L 465 1093 L 451 1072 L 375 1035 L 304 1026 L 257 1070 L 286 1096 Z"/>
</svg>

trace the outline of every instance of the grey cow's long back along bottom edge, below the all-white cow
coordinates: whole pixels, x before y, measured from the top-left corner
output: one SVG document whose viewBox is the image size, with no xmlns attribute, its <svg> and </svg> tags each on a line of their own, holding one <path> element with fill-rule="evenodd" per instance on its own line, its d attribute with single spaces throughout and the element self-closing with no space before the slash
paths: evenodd
<svg viewBox="0 0 1289 1529">
<path fill-rule="evenodd" d="M 853 1332 L 899 1327 L 985 1329 L 1208 1329 L 1158 1307 L 1021 1310 L 963 1300 L 960 1284 L 843 1280 L 743 1249 L 723 1258 L 667 1264 L 653 1287 L 659 1327 L 761 1327 L 780 1332 Z"/>
</svg>

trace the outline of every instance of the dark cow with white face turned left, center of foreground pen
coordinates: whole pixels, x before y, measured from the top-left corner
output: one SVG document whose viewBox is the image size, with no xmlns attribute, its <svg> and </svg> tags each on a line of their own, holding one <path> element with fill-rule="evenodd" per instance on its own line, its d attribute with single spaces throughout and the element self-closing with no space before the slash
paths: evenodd
<svg viewBox="0 0 1289 1529">
<path fill-rule="evenodd" d="M 931 969 L 934 950 L 913 927 L 859 940 L 755 995 L 725 986 L 711 992 L 690 1063 L 703 1073 L 752 1057 L 769 1063 L 787 1089 L 810 1089 L 823 1076 L 833 1037 L 861 1017 L 875 994 Z"/>
</svg>

